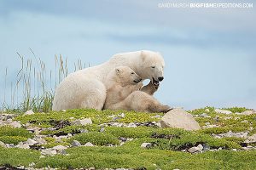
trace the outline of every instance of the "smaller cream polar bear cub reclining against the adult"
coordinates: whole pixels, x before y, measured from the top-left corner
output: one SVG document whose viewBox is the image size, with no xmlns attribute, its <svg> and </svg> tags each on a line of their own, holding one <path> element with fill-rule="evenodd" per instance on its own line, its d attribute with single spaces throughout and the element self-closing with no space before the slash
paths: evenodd
<svg viewBox="0 0 256 170">
<path fill-rule="evenodd" d="M 103 109 L 143 112 L 168 112 L 172 108 L 161 105 L 152 95 L 156 89 L 148 83 L 146 92 L 139 91 L 143 87 L 141 78 L 127 66 L 119 66 L 108 74 L 107 98 Z"/>
</svg>

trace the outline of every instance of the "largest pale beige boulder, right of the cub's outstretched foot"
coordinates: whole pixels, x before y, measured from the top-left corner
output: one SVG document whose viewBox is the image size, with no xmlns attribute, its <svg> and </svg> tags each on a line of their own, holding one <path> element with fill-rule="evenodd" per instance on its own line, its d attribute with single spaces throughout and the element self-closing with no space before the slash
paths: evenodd
<svg viewBox="0 0 256 170">
<path fill-rule="evenodd" d="M 177 127 L 186 130 L 198 130 L 201 127 L 195 118 L 183 109 L 173 109 L 160 120 L 161 127 Z"/>
</svg>

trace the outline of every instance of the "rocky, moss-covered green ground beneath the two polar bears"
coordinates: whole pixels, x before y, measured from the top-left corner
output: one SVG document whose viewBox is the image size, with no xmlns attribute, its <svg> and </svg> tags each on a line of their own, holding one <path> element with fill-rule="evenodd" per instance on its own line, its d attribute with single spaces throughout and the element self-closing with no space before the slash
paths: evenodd
<svg viewBox="0 0 256 170">
<path fill-rule="evenodd" d="M 245 108 L 0 115 L 0 169 L 253 169 L 255 146 Z"/>
</svg>

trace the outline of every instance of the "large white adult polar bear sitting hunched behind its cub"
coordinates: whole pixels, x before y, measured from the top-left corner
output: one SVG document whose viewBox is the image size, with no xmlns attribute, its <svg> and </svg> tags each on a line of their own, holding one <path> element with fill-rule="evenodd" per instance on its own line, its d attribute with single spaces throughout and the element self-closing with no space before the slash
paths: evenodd
<svg viewBox="0 0 256 170">
<path fill-rule="evenodd" d="M 108 81 L 108 73 L 120 65 L 129 66 L 139 77 L 143 80 L 150 79 L 154 85 L 164 79 L 165 61 L 159 53 L 143 50 L 115 54 L 101 65 L 69 74 L 55 89 L 53 111 L 75 108 L 102 110 L 107 93 L 105 83 Z"/>
</svg>

